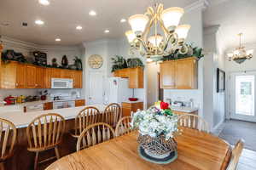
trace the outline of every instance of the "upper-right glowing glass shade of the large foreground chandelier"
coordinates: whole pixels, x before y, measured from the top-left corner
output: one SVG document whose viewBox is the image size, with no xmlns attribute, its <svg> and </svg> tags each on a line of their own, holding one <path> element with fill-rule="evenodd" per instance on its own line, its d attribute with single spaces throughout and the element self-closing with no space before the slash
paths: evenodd
<svg viewBox="0 0 256 170">
<path fill-rule="evenodd" d="M 184 14 L 183 8 L 172 7 L 172 8 L 166 8 L 162 12 L 160 17 L 161 17 L 161 20 L 163 20 L 167 30 L 172 32 L 175 30 L 183 14 Z"/>
</svg>

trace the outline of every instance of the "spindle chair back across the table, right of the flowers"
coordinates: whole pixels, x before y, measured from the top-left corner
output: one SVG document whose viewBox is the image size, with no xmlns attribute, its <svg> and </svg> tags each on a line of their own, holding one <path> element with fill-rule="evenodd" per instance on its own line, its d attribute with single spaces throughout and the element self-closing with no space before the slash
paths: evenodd
<svg viewBox="0 0 256 170">
<path fill-rule="evenodd" d="M 193 114 L 181 115 L 179 116 L 177 123 L 178 126 L 181 127 L 194 128 L 199 131 L 209 133 L 208 123 L 203 118 L 201 118 L 201 116 Z"/>
</svg>

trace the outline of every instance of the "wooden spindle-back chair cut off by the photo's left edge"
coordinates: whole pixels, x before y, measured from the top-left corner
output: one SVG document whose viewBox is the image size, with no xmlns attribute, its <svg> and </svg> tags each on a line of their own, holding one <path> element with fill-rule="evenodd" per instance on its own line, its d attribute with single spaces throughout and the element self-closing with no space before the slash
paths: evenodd
<svg viewBox="0 0 256 170">
<path fill-rule="evenodd" d="M 14 156 L 17 130 L 14 123 L 0 118 L 0 169 L 4 170 L 4 162 Z"/>
</svg>

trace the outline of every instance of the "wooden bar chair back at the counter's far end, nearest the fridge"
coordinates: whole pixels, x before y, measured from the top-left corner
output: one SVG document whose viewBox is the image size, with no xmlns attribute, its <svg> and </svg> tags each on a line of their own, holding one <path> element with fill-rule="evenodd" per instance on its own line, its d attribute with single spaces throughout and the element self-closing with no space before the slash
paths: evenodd
<svg viewBox="0 0 256 170">
<path fill-rule="evenodd" d="M 119 122 L 121 118 L 121 107 L 119 104 L 109 104 L 103 114 L 103 122 L 112 125 L 113 127 Z"/>
</svg>

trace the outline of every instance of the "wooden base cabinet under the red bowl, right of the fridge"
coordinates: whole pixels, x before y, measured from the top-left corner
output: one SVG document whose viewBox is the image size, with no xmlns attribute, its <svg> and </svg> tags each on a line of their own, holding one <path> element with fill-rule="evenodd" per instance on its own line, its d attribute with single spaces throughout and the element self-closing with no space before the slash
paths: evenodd
<svg viewBox="0 0 256 170">
<path fill-rule="evenodd" d="M 131 112 L 136 112 L 138 109 L 143 110 L 143 102 L 122 103 L 123 116 L 131 116 Z"/>
</svg>

